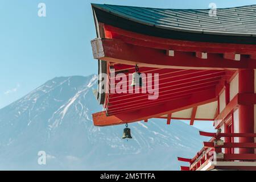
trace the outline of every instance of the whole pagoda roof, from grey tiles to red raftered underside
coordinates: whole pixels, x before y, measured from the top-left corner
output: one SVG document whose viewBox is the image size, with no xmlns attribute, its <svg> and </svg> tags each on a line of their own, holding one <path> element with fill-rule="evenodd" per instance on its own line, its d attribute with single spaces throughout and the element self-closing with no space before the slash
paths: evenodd
<svg viewBox="0 0 256 182">
<path fill-rule="evenodd" d="M 97 4 L 92 9 L 97 38 L 91 43 L 100 78 L 96 96 L 104 107 L 93 114 L 96 126 L 151 118 L 167 119 L 168 125 L 171 119 L 191 125 L 218 121 L 226 112 L 218 104 L 224 86 L 238 79 L 240 69 L 256 69 L 256 5 L 217 9 L 213 17 L 209 9 Z M 156 99 L 131 86 L 135 65 L 146 75 L 141 90 L 154 75 Z M 115 92 L 121 84 L 129 92 Z M 232 103 L 240 101 L 237 96 Z"/>
</svg>

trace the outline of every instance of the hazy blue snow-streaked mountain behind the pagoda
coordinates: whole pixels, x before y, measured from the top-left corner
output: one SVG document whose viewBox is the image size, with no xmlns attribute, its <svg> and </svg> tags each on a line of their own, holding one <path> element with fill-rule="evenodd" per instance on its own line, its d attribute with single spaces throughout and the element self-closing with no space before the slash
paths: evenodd
<svg viewBox="0 0 256 182">
<path fill-rule="evenodd" d="M 96 75 L 57 77 L 1 109 L 0 169 L 175 170 L 177 156 L 200 150 L 205 138 L 180 121 L 130 124 L 128 141 L 125 126 L 93 126 L 92 113 L 102 109 L 96 88 Z M 46 165 L 38 164 L 39 151 Z"/>
</svg>

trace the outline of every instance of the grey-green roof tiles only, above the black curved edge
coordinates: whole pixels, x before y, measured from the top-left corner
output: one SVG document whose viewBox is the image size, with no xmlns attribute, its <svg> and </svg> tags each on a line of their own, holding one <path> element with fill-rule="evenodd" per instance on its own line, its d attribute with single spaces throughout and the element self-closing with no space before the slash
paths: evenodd
<svg viewBox="0 0 256 182">
<path fill-rule="evenodd" d="M 116 16 L 167 30 L 216 35 L 256 36 L 256 5 L 217 9 L 217 16 L 209 16 L 209 9 L 155 9 L 117 5 L 98 5 Z"/>
</svg>

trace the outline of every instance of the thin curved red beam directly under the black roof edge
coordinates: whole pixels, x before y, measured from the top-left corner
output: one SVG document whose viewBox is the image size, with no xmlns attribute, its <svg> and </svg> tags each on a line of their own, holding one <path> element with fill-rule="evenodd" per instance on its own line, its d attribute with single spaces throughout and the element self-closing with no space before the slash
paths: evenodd
<svg viewBox="0 0 256 182">
<path fill-rule="evenodd" d="M 135 44 L 137 46 L 147 46 L 157 49 L 172 49 L 175 51 L 188 52 L 239 52 L 245 55 L 256 54 L 256 45 L 246 44 L 226 44 L 226 43 L 208 43 L 208 42 L 193 42 L 187 40 L 164 39 L 135 32 L 123 30 L 105 24 L 105 29 L 113 33 L 113 38 L 121 39 L 124 42 Z"/>
</svg>

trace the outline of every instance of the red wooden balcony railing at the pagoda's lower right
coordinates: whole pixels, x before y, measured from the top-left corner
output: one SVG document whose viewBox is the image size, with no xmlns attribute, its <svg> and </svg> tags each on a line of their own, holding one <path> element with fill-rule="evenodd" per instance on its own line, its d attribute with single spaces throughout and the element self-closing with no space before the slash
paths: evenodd
<svg viewBox="0 0 256 182">
<path fill-rule="evenodd" d="M 212 137 L 209 142 L 204 142 L 204 147 L 192 159 L 178 158 L 181 162 L 188 162 L 189 167 L 181 166 L 181 171 L 196 171 L 203 168 L 209 161 L 256 161 L 256 154 L 225 154 L 222 148 L 256 148 L 256 143 L 225 143 L 221 138 L 247 137 L 255 138 L 254 133 L 207 133 L 200 131 L 200 135 Z"/>
</svg>

